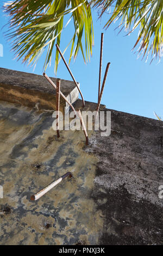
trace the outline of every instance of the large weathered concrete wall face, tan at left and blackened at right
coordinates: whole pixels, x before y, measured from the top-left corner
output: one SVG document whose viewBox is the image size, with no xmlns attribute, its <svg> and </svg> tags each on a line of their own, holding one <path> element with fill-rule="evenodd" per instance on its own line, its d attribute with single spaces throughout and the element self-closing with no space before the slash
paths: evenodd
<svg viewBox="0 0 163 256">
<path fill-rule="evenodd" d="M 161 121 L 111 110 L 111 135 L 90 131 L 86 147 L 83 131 L 57 138 L 52 113 L 0 107 L 1 245 L 162 244 Z M 68 171 L 74 179 L 30 201 Z"/>
</svg>

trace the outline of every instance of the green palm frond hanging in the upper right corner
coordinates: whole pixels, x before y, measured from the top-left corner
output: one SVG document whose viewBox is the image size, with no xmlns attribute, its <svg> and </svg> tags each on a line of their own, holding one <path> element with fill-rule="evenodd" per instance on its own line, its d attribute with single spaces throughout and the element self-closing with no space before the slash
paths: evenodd
<svg viewBox="0 0 163 256">
<path fill-rule="evenodd" d="M 152 59 L 162 56 L 163 45 L 163 1 L 162 0 L 92 0 L 93 8 L 100 8 L 100 17 L 112 8 L 108 28 L 112 22 L 121 20 L 120 26 L 128 30 L 128 34 L 139 28 L 139 35 L 133 48 L 138 44 L 139 55 Z M 119 27 L 120 27 L 119 26 Z"/>
</svg>

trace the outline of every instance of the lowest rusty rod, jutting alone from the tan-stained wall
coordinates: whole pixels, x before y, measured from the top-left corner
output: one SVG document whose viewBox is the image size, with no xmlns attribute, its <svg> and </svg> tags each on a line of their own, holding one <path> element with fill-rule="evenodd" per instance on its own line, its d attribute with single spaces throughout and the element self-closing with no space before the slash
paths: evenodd
<svg viewBox="0 0 163 256">
<path fill-rule="evenodd" d="M 42 197 L 44 194 L 46 194 L 49 190 L 51 190 L 53 187 L 55 187 L 57 184 L 59 184 L 59 182 L 61 182 L 63 179 L 65 179 L 67 176 L 72 177 L 72 174 L 70 172 L 65 173 L 64 175 L 62 175 L 58 180 L 53 181 L 51 184 L 49 184 L 47 187 L 43 188 L 42 190 L 40 190 L 39 192 L 37 192 L 36 194 L 33 194 L 30 197 L 30 200 L 37 200 L 40 197 Z"/>
</svg>

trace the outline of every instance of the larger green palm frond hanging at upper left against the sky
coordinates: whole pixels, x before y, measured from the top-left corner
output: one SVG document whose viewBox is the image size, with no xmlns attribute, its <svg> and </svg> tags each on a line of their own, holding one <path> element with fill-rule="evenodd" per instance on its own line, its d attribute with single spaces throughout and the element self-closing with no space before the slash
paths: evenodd
<svg viewBox="0 0 163 256">
<path fill-rule="evenodd" d="M 90 58 L 93 45 L 93 24 L 91 8 L 85 0 L 22 0 L 4 5 L 9 15 L 10 31 L 6 33 L 11 40 L 12 50 L 18 59 L 34 64 L 46 50 L 44 69 L 51 64 L 55 41 L 60 45 L 61 33 L 73 21 L 74 33 L 70 41 L 71 54 L 76 58 L 82 50 L 84 61 Z M 64 18 L 69 20 L 64 26 Z M 85 52 L 83 50 L 83 32 L 85 32 Z M 67 48 L 67 47 L 66 47 Z M 58 52 L 55 52 L 55 72 L 59 63 Z"/>
</svg>

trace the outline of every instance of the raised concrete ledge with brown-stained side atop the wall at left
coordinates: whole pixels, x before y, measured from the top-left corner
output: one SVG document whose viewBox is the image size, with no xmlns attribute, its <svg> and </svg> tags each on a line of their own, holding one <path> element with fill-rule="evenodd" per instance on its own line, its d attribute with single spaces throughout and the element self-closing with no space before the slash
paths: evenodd
<svg viewBox="0 0 163 256">
<path fill-rule="evenodd" d="M 56 84 L 56 78 L 51 77 L 51 80 Z M 61 80 L 60 89 L 71 103 L 78 99 L 79 93 L 74 82 Z M 3 68 L 0 68 L 0 100 L 32 108 L 56 108 L 55 89 L 45 77 Z M 67 103 L 61 97 L 60 111 L 64 111 L 65 106 Z"/>
</svg>

